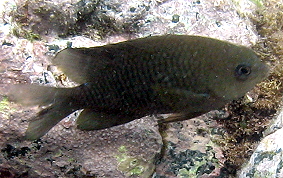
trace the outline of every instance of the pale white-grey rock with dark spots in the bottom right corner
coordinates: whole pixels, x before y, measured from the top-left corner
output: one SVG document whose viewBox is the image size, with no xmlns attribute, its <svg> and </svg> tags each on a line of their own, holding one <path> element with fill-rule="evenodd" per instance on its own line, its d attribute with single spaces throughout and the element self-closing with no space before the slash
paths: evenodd
<svg viewBox="0 0 283 178">
<path fill-rule="evenodd" d="M 249 162 L 239 171 L 241 178 L 283 177 L 283 112 L 266 130 L 266 136 L 252 154 Z"/>
</svg>

